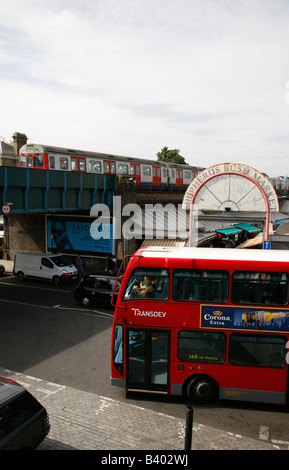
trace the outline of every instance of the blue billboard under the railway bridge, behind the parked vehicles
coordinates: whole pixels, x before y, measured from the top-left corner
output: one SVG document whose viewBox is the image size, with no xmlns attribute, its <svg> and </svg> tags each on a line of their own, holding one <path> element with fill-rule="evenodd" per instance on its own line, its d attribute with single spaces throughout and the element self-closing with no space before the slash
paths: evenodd
<svg viewBox="0 0 289 470">
<path fill-rule="evenodd" d="M 87 219 L 47 220 L 47 249 L 56 249 L 58 252 L 112 253 L 112 224 L 92 225 Z"/>
</svg>

